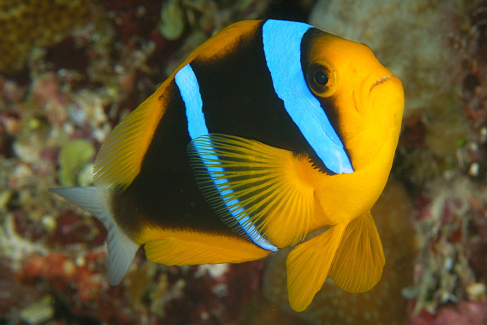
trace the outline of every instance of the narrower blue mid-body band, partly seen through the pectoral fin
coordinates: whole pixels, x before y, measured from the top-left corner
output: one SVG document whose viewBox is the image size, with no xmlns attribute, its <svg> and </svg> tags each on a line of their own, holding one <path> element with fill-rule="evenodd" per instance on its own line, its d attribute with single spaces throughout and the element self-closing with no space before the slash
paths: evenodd
<svg viewBox="0 0 487 325">
<path fill-rule="evenodd" d="M 191 66 L 187 64 L 181 70 L 179 70 L 174 76 L 174 81 L 176 82 L 176 85 L 179 88 L 179 93 L 181 94 L 181 97 L 183 98 L 183 101 L 185 103 L 187 130 L 189 132 L 189 137 L 191 138 L 191 140 L 193 140 L 202 135 L 208 134 L 208 128 L 206 127 L 205 122 L 205 113 L 203 113 L 203 100 L 201 99 L 200 86 Z M 220 197 L 223 200 L 226 195 L 233 193 L 233 191 L 230 189 L 225 190 L 225 188 L 228 187 L 228 185 L 225 185 L 228 180 L 220 178 L 223 176 L 223 174 L 217 174 L 224 172 L 223 168 L 214 166 L 214 164 L 218 164 L 217 155 L 209 155 L 207 152 L 202 152 L 201 149 L 198 150 L 197 147 L 196 150 L 202 161 L 211 162 L 211 164 L 213 165 L 206 166 L 206 169 L 208 171 L 208 175 L 210 175 L 210 178 L 213 181 L 214 186 L 218 189 Z M 213 148 L 211 151 L 213 151 Z M 254 243 L 259 245 L 263 249 L 272 252 L 277 251 L 277 247 L 265 240 L 259 234 L 255 226 L 248 221 L 249 217 L 242 218 L 242 213 L 244 212 L 243 208 L 233 210 L 231 209 L 232 206 L 235 206 L 238 203 L 238 199 L 233 199 L 225 202 L 225 205 L 228 208 L 228 212 L 238 220 L 244 232 L 250 237 L 250 239 Z"/>
</svg>

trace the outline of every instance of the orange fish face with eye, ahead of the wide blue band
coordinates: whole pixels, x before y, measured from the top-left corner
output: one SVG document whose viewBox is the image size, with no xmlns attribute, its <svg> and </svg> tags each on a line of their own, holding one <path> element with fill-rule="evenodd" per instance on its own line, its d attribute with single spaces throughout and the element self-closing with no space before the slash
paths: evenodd
<svg viewBox="0 0 487 325">
<path fill-rule="evenodd" d="M 301 65 L 308 88 L 337 131 L 354 171 L 367 166 L 383 144 L 392 143 L 388 149 L 395 150 L 404 108 L 399 78 L 367 45 L 326 32 L 316 33 L 306 53 Z"/>
</svg>

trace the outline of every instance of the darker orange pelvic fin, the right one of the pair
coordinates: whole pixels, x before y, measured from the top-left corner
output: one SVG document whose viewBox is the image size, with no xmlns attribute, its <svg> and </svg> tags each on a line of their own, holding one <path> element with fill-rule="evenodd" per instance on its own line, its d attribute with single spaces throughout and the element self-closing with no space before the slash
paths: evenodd
<svg viewBox="0 0 487 325">
<path fill-rule="evenodd" d="M 352 220 L 341 239 L 329 275 L 348 292 L 365 292 L 380 280 L 385 258 L 370 211 Z"/>
</svg>

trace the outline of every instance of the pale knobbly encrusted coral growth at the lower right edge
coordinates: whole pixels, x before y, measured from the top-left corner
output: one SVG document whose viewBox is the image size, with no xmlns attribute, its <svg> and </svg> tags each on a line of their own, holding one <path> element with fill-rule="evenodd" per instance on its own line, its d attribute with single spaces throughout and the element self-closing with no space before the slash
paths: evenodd
<svg viewBox="0 0 487 325">
<path fill-rule="evenodd" d="M 487 189 L 467 178 L 438 179 L 418 199 L 416 228 L 421 253 L 415 267 L 413 314 L 423 308 L 486 300 L 485 281 Z M 439 317 L 439 314 L 438 314 Z"/>
</svg>

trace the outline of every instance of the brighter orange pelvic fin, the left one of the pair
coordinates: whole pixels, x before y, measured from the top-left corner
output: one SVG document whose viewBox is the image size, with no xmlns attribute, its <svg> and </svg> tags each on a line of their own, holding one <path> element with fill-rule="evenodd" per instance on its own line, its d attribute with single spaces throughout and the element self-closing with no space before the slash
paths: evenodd
<svg viewBox="0 0 487 325">
<path fill-rule="evenodd" d="M 323 286 L 346 227 L 346 222 L 340 222 L 296 246 L 287 256 L 287 290 L 294 310 L 306 309 Z"/>
</svg>

